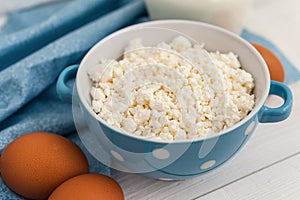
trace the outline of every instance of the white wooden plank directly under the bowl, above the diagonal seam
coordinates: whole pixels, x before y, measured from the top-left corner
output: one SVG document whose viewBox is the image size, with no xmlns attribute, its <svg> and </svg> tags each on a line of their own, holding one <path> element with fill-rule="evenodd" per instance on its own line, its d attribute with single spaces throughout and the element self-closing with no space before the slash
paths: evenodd
<svg viewBox="0 0 300 200">
<path fill-rule="evenodd" d="M 300 87 L 300 82 L 290 87 L 295 101 L 299 101 L 300 91 L 297 88 Z M 260 124 L 253 137 L 235 158 L 219 169 L 197 178 L 163 182 L 122 172 L 114 172 L 113 176 L 124 189 L 127 200 L 203 198 L 298 155 L 300 123 L 297 116 L 299 115 L 300 104 L 295 104 L 288 120 L 276 124 Z M 284 173 L 281 172 L 282 176 Z M 300 185 L 300 181 L 297 184 Z M 247 189 L 247 185 L 244 185 L 244 188 Z M 268 189 L 280 190 L 280 188 Z"/>
</svg>

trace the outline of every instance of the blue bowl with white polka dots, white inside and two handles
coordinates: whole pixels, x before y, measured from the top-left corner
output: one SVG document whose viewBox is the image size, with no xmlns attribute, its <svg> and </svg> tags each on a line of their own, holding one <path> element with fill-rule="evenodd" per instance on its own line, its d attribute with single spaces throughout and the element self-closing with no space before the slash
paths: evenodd
<svg viewBox="0 0 300 200">
<path fill-rule="evenodd" d="M 205 43 L 208 51 L 232 51 L 239 55 L 243 68 L 250 72 L 255 80 L 256 99 L 253 110 L 233 127 L 215 136 L 193 141 L 147 140 L 120 132 L 107 125 L 91 108 L 89 95 L 91 82 L 87 70 L 97 63 L 99 58 L 117 58 L 128 41 L 133 38 L 142 37 L 146 43 L 157 43 L 170 37 L 145 27 L 177 30 L 196 41 Z M 62 98 L 71 97 L 73 92 L 66 85 L 66 81 L 76 72 L 74 94 L 78 95 L 76 99 L 79 99 L 80 109 L 77 109 L 74 117 L 75 122 L 77 119 L 77 124 L 84 121 L 88 126 L 87 133 L 82 133 L 83 131 L 77 126 L 87 149 L 100 162 L 112 168 L 157 179 L 181 180 L 199 176 L 217 168 L 245 145 L 259 122 L 282 121 L 289 116 L 292 107 L 292 94 L 289 88 L 282 83 L 270 81 L 266 63 L 247 41 L 222 28 L 200 22 L 153 21 L 134 25 L 109 35 L 86 54 L 80 65 L 70 66 L 61 73 L 57 91 Z M 269 94 L 280 96 L 284 99 L 284 104 L 279 108 L 266 107 L 264 103 Z"/>
</svg>

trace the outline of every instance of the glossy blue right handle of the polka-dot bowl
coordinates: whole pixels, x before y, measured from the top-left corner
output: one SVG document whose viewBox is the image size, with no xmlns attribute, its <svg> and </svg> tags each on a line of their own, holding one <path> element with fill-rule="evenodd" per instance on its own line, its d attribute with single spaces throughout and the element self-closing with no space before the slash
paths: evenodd
<svg viewBox="0 0 300 200">
<path fill-rule="evenodd" d="M 284 103 L 278 108 L 269 108 L 264 105 L 259 113 L 259 122 L 272 123 L 283 121 L 288 118 L 293 104 L 293 95 L 288 86 L 277 81 L 271 81 L 269 94 L 274 94 L 283 98 Z"/>
</svg>

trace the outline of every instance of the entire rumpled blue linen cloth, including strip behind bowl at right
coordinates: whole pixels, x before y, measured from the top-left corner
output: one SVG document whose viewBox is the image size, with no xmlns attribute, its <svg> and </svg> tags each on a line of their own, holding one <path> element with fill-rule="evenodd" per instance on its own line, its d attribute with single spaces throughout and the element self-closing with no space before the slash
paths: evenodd
<svg viewBox="0 0 300 200">
<path fill-rule="evenodd" d="M 141 0 L 75 0 L 10 13 L 0 31 L 0 152 L 24 133 L 55 132 L 83 149 L 91 172 L 109 175 L 109 168 L 94 159 L 74 133 L 72 106 L 58 99 L 55 81 L 101 38 L 148 21 L 146 15 Z M 284 64 L 287 83 L 300 79 L 299 71 L 271 42 L 249 30 L 241 36 L 274 51 Z M 0 178 L 0 199 L 23 198 Z"/>
</svg>

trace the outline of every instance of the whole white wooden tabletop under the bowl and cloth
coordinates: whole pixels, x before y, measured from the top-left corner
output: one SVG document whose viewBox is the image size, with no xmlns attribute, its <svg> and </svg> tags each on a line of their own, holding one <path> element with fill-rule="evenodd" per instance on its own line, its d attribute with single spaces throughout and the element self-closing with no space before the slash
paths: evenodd
<svg viewBox="0 0 300 200">
<path fill-rule="evenodd" d="M 278 46 L 300 69 L 300 1 L 256 0 L 246 27 Z M 163 182 L 113 172 L 127 200 L 300 200 L 300 81 L 290 85 L 290 118 L 260 124 L 234 159 L 203 176 Z"/>
</svg>

